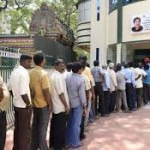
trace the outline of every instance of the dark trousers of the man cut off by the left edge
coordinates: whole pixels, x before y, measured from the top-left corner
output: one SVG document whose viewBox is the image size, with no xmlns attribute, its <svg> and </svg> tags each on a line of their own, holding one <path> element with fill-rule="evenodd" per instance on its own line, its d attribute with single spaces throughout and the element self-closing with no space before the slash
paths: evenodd
<svg viewBox="0 0 150 150">
<path fill-rule="evenodd" d="M 4 150 L 6 141 L 6 112 L 0 112 L 0 150 Z"/>
</svg>

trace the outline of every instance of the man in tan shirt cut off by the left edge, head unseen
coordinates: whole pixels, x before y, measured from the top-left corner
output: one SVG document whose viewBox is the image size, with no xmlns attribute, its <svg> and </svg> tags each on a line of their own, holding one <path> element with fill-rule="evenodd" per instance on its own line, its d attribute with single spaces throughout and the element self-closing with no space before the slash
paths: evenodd
<svg viewBox="0 0 150 150">
<path fill-rule="evenodd" d="M 0 76 L 0 149 L 3 150 L 6 141 L 6 110 L 10 105 L 10 95 L 7 90 L 6 85 L 3 82 L 2 77 Z"/>
</svg>

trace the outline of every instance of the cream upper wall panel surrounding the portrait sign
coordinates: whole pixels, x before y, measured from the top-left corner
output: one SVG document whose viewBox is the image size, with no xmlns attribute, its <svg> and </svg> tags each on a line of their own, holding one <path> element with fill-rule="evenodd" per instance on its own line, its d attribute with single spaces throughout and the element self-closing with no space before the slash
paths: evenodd
<svg viewBox="0 0 150 150">
<path fill-rule="evenodd" d="M 123 42 L 150 39 L 150 33 L 131 34 L 132 16 L 140 14 L 150 14 L 150 0 L 136 2 L 123 7 Z"/>
</svg>

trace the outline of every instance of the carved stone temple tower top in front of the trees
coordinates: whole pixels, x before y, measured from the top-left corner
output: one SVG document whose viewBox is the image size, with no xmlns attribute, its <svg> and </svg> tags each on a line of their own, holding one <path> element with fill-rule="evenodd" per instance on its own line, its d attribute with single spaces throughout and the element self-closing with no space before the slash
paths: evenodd
<svg viewBox="0 0 150 150">
<path fill-rule="evenodd" d="M 74 33 L 66 24 L 56 16 L 54 11 L 42 3 L 40 9 L 37 9 L 31 20 L 30 31 L 46 38 L 55 39 L 64 45 L 74 43 Z"/>
</svg>

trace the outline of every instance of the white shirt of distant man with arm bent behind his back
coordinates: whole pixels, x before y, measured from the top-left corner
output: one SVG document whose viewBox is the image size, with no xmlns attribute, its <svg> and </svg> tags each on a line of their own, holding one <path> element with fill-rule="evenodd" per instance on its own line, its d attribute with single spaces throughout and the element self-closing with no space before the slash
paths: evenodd
<svg viewBox="0 0 150 150">
<path fill-rule="evenodd" d="M 147 73 L 140 68 L 135 68 L 134 73 L 135 73 L 135 78 L 137 78 L 139 75 L 141 75 L 141 77 L 135 81 L 136 88 L 142 88 L 143 87 L 143 77 L 145 77 L 147 75 Z"/>
</svg>

